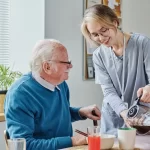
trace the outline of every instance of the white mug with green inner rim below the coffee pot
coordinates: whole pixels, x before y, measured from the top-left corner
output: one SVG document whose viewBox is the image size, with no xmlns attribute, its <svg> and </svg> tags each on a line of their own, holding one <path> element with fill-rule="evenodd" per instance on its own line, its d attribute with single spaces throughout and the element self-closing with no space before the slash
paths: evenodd
<svg viewBox="0 0 150 150">
<path fill-rule="evenodd" d="M 136 129 L 135 128 L 119 128 L 118 142 L 121 150 L 133 150 L 135 146 Z"/>
</svg>

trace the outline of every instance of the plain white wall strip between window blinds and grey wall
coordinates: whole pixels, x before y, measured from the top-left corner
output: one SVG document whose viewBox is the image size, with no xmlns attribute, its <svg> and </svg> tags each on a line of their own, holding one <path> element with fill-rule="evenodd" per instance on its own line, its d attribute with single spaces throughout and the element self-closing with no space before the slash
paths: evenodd
<svg viewBox="0 0 150 150">
<path fill-rule="evenodd" d="M 34 44 L 44 38 L 45 1 L 11 0 L 10 8 L 11 64 L 25 73 Z"/>
</svg>

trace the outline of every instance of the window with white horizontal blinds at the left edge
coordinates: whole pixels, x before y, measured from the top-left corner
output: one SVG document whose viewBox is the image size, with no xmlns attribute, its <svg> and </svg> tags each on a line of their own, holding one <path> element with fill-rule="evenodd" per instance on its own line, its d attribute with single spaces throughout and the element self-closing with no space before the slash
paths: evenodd
<svg viewBox="0 0 150 150">
<path fill-rule="evenodd" d="M 10 0 L 0 0 L 0 64 L 9 65 Z"/>
</svg>

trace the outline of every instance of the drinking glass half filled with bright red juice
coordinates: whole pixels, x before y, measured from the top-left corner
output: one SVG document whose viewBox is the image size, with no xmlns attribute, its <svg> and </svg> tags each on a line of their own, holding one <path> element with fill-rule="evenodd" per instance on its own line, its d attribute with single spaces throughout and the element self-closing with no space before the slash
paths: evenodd
<svg viewBox="0 0 150 150">
<path fill-rule="evenodd" d="M 100 127 L 93 126 L 87 128 L 88 150 L 100 150 Z"/>
</svg>

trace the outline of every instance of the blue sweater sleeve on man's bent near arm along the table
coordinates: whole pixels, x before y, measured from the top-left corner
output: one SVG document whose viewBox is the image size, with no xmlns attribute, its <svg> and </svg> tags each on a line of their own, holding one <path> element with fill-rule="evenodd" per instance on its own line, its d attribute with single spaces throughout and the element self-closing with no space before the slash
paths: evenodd
<svg viewBox="0 0 150 150">
<path fill-rule="evenodd" d="M 10 101 L 11 99 L 11 101 Z M 31 105 L 31 107 L 28 107 Z M 5 116 L 10 138 L 24 137 L 27 150 L 57 150 L 71 147 L 71 137 L 56 137 L 51 139 L 35 139 L 34 112 L 35 106 L 27 103 L 26 97 L 18 92 L 8 94 L 5 100 Z"/>
</svg>

